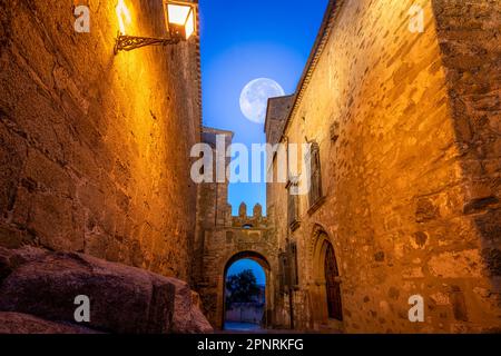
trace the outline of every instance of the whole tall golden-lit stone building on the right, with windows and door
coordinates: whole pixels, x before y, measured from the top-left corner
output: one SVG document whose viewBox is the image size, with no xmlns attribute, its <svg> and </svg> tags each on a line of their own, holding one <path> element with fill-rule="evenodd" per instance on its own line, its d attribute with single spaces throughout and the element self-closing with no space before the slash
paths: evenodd
<svg viewBox="0 0 501 356">
<path fill-rule="evenodd" d="M 312 147 L 267 188 L 271 240 L 297 260 L 276 325 L 501 329 L 500 13 L 492 0 L 330 1 L 296 93 L 271 100 L 266 122 L 268 142 Z M 305 170 L 310 192 L 291 195 Z M 413 296 L 424 323 L 410 322 Z"/>
</svg>

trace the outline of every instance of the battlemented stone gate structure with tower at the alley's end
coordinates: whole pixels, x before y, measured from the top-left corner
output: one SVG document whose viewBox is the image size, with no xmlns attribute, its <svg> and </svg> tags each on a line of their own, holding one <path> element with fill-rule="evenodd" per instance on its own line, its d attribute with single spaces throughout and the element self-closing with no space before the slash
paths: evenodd
<svg viewBox="0 0 501 356">
<path fill-rule="evenodd" d="M 233 132 L 204 128 L 203 142 L 212 147 L 213 157 L 218 156 L 217 136 L 223 138 L 223 152 L 226 152 L 232 144 Z M 223 160 L 220 167 L 226 171 L 229 158 L 219 159 Z M 213 171 L 216 171 L 217 158 L 213 159 Z M 245 204 L 239 206 L 238 216 L 232 215 L 226 176 L 219 181 L 214 179 L 199 185 L 194 286 L 200 294 L 205 315 L 214 327 L 224 326 L 227 270 L 235 261 L 244 258 L 255 260 L 265 271 L 265 323 L 269 327 L 274 325 L 275 271 L 278 267 L 275 241 L 271 237 L 268 218 L 263 216 L 259 205 L 254 207 L 252 216 L 247 214 Z"/>
</svg>

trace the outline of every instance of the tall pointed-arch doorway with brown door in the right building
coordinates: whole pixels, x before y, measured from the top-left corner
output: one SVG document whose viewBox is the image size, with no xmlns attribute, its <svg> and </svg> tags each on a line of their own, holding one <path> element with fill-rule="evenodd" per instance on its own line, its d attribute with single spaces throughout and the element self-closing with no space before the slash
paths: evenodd
<svg viewBox="0 0 501 356">
<path fill-rule="evenodd" d="M 334 246 L 327 234 L 316 235 L 313 254 L 312 318 L 314 328 L 341 327 L 341 276 Z"/>
</svg>

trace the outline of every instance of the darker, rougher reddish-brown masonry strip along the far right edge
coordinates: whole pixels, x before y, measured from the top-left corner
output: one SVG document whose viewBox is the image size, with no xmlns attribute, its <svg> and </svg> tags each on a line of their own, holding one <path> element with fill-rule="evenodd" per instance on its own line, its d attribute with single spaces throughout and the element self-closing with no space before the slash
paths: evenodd
<svg viewBox="0 0 501 356">
<path fill-rule="evenodd" d="M 501 2 L 435 0 L 466 205 L 501 288 Z"/>
</svg>

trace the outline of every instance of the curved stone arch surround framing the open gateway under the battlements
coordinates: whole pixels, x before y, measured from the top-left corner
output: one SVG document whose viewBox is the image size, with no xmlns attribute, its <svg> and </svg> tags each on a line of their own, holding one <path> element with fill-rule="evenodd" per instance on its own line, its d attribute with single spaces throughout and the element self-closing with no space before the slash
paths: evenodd
<svg viewBox="0 0 501 356">
<path fill-rule="evenodd" d="M 264 257 L 262 254 L 256 251 L 239 251 L 234 254 L 225 264 L 224 271 L 223 271 L 223 284 L 220 286 L 220 297 L 219 299 L 219 307 L 220 315 L 218 319 L 220 320 L 220 328 L 224 328 L 225 326 L 225 316 L 226 316 L 226 277 L 228 274 L 229 267 L 235 264 L 238 260 L 242 259 L 250 259 L 256 261 L 264 270 L 265 277 L 266 277 L 266 285 L 265 285 L 265 308 L 264 308 L 264 325 L 263 327 L 266 328 L 271 326 L 271 310 L 272 310 L 272 267 L 267 260 L 266 257 Z"/>
</svg>

